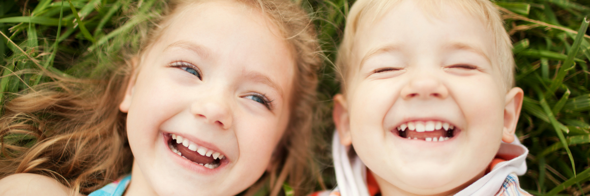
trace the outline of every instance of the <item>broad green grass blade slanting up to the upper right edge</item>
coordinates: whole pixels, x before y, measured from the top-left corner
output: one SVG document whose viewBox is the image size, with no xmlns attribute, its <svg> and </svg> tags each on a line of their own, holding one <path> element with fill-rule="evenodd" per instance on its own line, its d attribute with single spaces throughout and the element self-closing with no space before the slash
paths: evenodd
<svg viewBox="0 0 590 196">
<path fill-rule="evenodd" d="M 588 21 L 587 18 L 584 18 L 584 21 L 582 22 L 582 25 L 578 30 L 578 35 L 576 36 L 576 39 L 573 41 L 573 45 L 571 50 L 569 51 L 568 58 L 565 60 L 565 62 L 563 62 L 562 67 L 559 68 L 557 76 L 555 77 L 555 79 L 553 79 L 553 82 L 549 86 L 549 89 L 547 89 L 547 91 L 545 92 L 545 97 L 548 97 L 548 95 L 553 95 L 553 93 L 555 93 L 557 88 L 562 84 L 563 78 L 567 74 L 567 71 L 573 67 L 573 59 L 576 57 L 576 55 L 578 55 L 578 50 L 580 49 L 580 45 L 586 33 L 586 29 L 588 29 L 589 22 L 590 21 Z"/>
</svg>

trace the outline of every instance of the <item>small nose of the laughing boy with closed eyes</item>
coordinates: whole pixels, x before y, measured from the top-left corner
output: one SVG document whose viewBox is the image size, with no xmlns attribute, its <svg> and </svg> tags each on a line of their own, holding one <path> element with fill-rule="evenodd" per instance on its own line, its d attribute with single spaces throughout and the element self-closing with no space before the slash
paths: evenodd
<svg viewBox="0 0 590 196">
<path fill-rule="evenodd" d="M 433 77 L 432 75 L 420 75 L 411 79 L 408 84 L 402 88 L 401 96 L 404 99 L 444 99 L 448 96 L 448 89 L 440 80 L 438 80 L 438 78 Z"/>
</svg>

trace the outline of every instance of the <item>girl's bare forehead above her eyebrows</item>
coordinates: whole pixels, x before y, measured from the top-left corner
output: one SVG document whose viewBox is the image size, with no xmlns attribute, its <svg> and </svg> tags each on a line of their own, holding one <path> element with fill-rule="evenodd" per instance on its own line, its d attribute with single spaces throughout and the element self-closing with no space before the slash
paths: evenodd
<svg viewBox="0 0 590 196">
<path fill-rule="evenodd" d="M 191 6 L 170 19 L 143 55 L 146 65 L 182 60 L 204 71 L 230 66 L 235 77 L 267 81 L 280 94 L 289 94 L 296 66 L 293 52 L 266 16 L 236 3 Z M 262 77 L 248 77 L 252 73 Z"/>
</svg>

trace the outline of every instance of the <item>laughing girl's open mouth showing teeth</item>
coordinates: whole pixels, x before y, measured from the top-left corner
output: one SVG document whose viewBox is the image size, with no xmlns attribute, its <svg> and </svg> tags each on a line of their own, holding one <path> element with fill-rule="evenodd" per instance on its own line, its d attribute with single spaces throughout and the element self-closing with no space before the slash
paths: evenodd
<svg viewBox="0 0 590 196">
<path fill-rule="evenodd" d="M 168 140 L 170 150 L 195 164 L 203 165 L 209 169 L 215 169 L 221 165 L 221 160 L 225 158 L 225 155 L 199 146 L 195 142 L 183 138 L 181 135 L 170 135 L 171 139 Z"/>
</svg>

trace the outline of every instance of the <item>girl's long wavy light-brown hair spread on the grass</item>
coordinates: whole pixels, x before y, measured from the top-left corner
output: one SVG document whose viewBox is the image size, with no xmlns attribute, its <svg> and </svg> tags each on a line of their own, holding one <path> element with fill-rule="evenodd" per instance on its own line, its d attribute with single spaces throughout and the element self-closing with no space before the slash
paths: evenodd
<svg viewBox="0 0 590 196">
<path fill-rule="evenodd" d="M 268 187 L 271 195 L 277 195 L 284 182 L 294 188 L 295 195 L 308 194 L 315 185 L 309 167 L 309 142 L 321 63 L 316 32 L 309 16 L 290 0 L 238 1 L 258 9 L 278 27 L 292 46 L 297 66 L 289 126 L 270 171 L 244 194 L 253 195 Z M 73 79 L 44 70 L 41 74 L 53 81 L 12 95 L 0 117 L 0 178 L 17 173 L 42 174 L 70 187 L 73 193 L 89 194 L 129 173 L 133 155 L 125 131 L 126 114 L 119 111 L 127 82 L 135 72 L 129 61 L 140 57 L 157 40 L 179 6 L 195 2 L 201 1 L 160 2 L 163 11 L 154 11 L 152 19 L 140 22 L 131 32 L 140 40 L 122 36 L 118 39 L 126 41 L 119 47 L 99 48 L 88 55 L 119 54 L 109 57 L 108 62 L 96 62 L 105 67 L 96 71 L 99 74 L 92 77 L 96 79 Z M 108 51 L 112 48 L 120 49 Z"/>
</svg>

